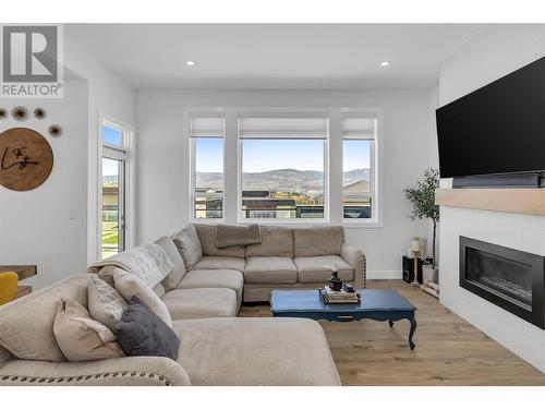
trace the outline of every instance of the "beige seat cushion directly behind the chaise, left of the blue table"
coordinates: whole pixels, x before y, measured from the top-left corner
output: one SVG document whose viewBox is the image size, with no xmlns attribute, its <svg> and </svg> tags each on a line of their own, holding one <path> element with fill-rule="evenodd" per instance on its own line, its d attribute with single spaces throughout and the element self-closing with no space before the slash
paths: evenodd
<svg viewBox="0 0 545 409">
<path fill-rule="evenodd" d="M 172 290 L 165 294 L 172 321 L 235 316 L 239 303 L 230 288 L 191 288 Z"/>
</svg>

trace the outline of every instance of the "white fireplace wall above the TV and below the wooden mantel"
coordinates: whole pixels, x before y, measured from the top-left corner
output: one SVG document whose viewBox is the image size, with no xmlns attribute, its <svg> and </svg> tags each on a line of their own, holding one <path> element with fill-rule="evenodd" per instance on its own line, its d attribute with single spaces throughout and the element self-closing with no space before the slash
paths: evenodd
<svg viewBox="0 0 545 409">
<path fill-rule="evenodd" d="M 493 25 L 440 67 L 445 105 L 545 56 L 545 25 Z M 441 181 L 448 187 L 449 181 Z M 458 285 L 459 236 L 545 255 L 545 218 L 441 207 L 440 302 L 545 372 L 545 332 Z"/>
</svg>

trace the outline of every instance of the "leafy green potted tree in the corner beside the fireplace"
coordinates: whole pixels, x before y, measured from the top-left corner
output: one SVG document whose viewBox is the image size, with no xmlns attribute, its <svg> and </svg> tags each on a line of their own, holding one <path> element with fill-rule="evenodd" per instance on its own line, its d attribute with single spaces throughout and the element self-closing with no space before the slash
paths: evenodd
<svg viewBox="0 0 545 409">
<path fill-rule="evenodd" d="M 439 222 L 439 206 L 435 204 L 435 190 L 439 188 L 439 170 L 429 168 L 424 171 L 424 179 L 419 180 L 414 188 L 404 190 L 405 197 L 412 204 L 412 212 L 409 217 L 415 219 L 431 219 L 434 226 L 432 240 L 432 264 L 422 266 L 423 281 L 436 282 L 437 261 L 435 257 L 435 241 L 437 234 L 437 224 Z"/>
</svg>

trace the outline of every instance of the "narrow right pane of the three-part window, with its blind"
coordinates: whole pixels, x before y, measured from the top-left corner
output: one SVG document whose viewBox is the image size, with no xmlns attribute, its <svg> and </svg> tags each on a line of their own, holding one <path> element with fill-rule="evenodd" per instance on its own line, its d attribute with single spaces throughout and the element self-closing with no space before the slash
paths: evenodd
<svg viewBox="0 0 545 409">
<path fill-rule="evenodd" d="M 376 118 L 349 113 L 342 119 L 342 217 L 376 219 Z"/>
</svg>

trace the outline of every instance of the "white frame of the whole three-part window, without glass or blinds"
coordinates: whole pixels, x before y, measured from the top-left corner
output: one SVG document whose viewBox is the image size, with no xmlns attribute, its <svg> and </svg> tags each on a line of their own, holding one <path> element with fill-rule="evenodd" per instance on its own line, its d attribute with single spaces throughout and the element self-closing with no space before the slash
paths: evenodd
<svg viewBox="0 0 545 409">
<path fill-rule="evenodd" d="M 189 143 L 187 163 L 189 177 L 186 189 L 189 192 L 190 222 L 220 224 L 231 222 L 247 225 L 252 222 L 289 225 L 292 227 L 308 227 L 312 225 L 323 226 L 328 224 L 342 225 L 347 229 L 382 229 L 384 227 L 384 203 L 383 203 L 383 108 L 382 107 L 186 107 L 184 109 L 184 134 Z M 225 119 L 223 134 L 223 213 L 222 218 L 194 218 L 194 146 L 191 142 L 191 118 L 198 113 Z M 205 113 L 205 115 L 203 115 Z M 374 185 L 374 201 L 372 201 L 372 218 L 346 219 L 343 217 L 342 197 L 342 118 L 346 113 L 368 115 L 376 120 L 374 153 L 372 155 L 371 179 Z M 242 140 L 239 137 L 240 117 L 263 118 L 315 118 L 325 116 L 328 120 L 328 135 L 324 140 L 324 218 L 243 218 L 242 217 Z M 235 175 L 228 175 L 228 169 L 237 167 Z M 339 169 L 337 169 L 339 168 Z M 186 173 L 187 175 L 187 173 Z M 341 187 L 339 189 L 339 185 Z M 184 201 L 187 204 L 187 202 Z"/>
</svg>

